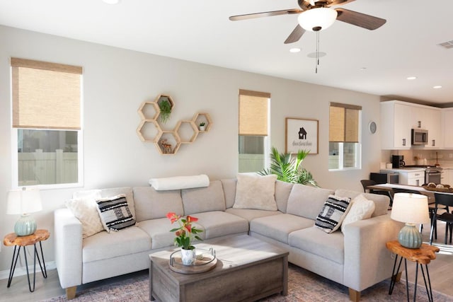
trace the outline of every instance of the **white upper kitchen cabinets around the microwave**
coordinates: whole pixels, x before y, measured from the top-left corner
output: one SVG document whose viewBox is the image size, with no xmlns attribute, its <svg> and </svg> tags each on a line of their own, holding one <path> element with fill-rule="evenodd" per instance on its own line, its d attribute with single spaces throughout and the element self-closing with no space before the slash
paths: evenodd
<svg viewBox="0 0 453 302">
<path fill-rule="evenodd" d="M 451 117 L 453 110 L 450 116 L 450 120 L 453 120 Z M 411 149 L 411 129 L 417 128 L 428 130 L 428 144 L 414 146 L 415 149 L 440 149 L 446 141 L 442 129 L 448 129 L 442 127 L 440 108 L 398 100 L 381 103 L 381 125 L 382 149 L 386 150 Z M 453 137 L 450 145 L 453 148 Z"/>
</svg>

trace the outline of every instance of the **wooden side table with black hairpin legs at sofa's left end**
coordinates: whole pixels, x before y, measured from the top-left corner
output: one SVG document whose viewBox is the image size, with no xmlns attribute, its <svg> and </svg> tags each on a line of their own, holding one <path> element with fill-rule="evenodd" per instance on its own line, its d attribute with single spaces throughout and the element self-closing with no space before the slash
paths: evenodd
<svg viewBox="0 0 453 302">
<path fill-rule="evenodd" d="M 36 230 L 35 233 L 28 236 L 17 236 L 16 233 L 9 233 L 5 236 L 3 244 L 6 246 L 14 246 L 13 260 L 11 261 L 11 269 L 9 269 L 9 278 L 8 278 L 8 287 L 11 286 L 11 280 L 13 280 L 14 269 L 16 269 L 16 263 L 23 248 L 23 256 L 25 257 L 25 268 L 27 269 L 27 278 L 28 278 L 28 289 L 31 292 L 35 291 L 35 277 L 36 277 L 36 259 L 38 258 L 38 263 L 41 268 L 42 277 L 47 278 L 47 271 L 45 269 L 44 254 L 42 253 L 41 241 L 47 240 L 50 237 L 50 233 L 47 230 Z M 41 258 L 38 254 L 38 249 L 36 248 L 36 243 L 40 243 Z M 33 245 L 34 247 L 34 261 L 33 261 L 33 288 L 30 283 L 30 273 L 28 272 L 28 260 L 27 260 L 27 251 L 25 248 L 28 245 Z M 42 263 L 41 263 L 42 261 Z"/>
</svg>

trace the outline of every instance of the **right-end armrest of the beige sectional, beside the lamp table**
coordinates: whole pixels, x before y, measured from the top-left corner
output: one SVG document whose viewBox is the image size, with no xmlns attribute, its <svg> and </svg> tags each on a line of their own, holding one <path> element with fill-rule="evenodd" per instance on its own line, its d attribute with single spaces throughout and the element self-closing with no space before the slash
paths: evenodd
<svg viewBox="0 0 453 302">
<path fill-rule="evenodd" d="M 398 238 L 402 227 L 389 214 L 345 225 L 345 286 L 362 291 L 391 277 L 394 256 L 385 244 Z"/>
</svg>

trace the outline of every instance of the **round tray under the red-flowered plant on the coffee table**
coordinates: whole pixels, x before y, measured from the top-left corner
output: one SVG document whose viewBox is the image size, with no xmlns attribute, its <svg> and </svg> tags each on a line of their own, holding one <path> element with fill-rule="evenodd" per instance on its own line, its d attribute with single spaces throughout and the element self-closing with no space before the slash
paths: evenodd
<svg viewBox="0 0 453 302">
<path fill-rule="evenodd" d="M 213 250 L 212 248 L 210 248 L 209 250 L 197 248 L 196 252 L 197 259 L 195 260 L 195 263 L 193 265 L 183 265 L 180 250 L 172 252 L 170 255 L 170 260 L 168 260 L 170 269 L 173 272 L 178 272 L 181 274 L 198 274 L 201 272 L 207 272 L 217 265 L 215 250 Z"/>
</svg>

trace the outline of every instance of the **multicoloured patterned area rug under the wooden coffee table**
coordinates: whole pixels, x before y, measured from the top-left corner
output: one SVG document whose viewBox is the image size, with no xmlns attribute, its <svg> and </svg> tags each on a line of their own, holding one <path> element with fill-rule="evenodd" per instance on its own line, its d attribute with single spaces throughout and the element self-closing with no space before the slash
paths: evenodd
<svg viewBox="0 0 453 302">
<path fill-rule="evenodd" d="M 289 265 L 288 296 L 273 295 L 260 302 L 347 302 L 349 300 L 348 288 L 317 274 Z M 423 282 L 423 279 L 420 280 Z M 390 281 L 382 281 L 369 289 L 362 291 L 360 301 L 407 301 L 406 283 L 401 280 L 394 288 L 393 294 L 389 296 Z M 421 283 L 420 283 L 421 284 Z M 414 285 L 409 284 L 410 300 L 413 301 Z M 434 301 L 452 301 L 452 296 L 432 292 Z M 58 296 L 41 302 L 67 301 L 66 296 Z M 125 301 L 149 301 L 149 284 L 147 272 L 130 274 L 121 281 L 113 281 L 111 284 L 96 286 L 90 289 L 77 291 L 76 298 L 71 302 L 125 302 Z M 209 301 L 207 298 L 206 301 Z M 428 301 L 424 286 L 418 286 L 417 301 Z"/>
</svg>

